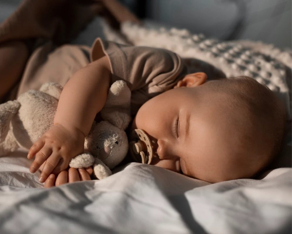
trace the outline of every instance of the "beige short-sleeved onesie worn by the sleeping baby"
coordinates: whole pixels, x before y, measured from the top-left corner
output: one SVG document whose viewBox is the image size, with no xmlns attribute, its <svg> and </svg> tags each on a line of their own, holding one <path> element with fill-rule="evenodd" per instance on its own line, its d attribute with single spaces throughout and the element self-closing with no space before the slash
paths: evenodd
<svg viewBox="0 0 292 234">
<path fill-rule="evenodd" d="M 187 71 L 183 60 L 175 53 L 150 47 L 135 47 L 103 41 L 97 38 L 92 47 L 63 45 L 54 47 L 46 42 L 30 56 L 16 94 L 38 90 L 45 82 L 64 86 L 69 78 L 91 61 L 106 55 L 109 58 L 112 80 L 125 80 L 132 92 L 132 114 L 148 99 L 169 90 Z"/>
</svg>

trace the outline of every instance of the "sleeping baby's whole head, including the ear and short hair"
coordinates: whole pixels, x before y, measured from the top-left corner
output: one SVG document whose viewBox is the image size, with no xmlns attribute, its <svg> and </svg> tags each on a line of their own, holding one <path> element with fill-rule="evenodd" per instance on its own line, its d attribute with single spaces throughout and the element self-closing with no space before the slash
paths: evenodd
<svg viewBox="0 0 292 234">
<path fill-rule="evenodd" d="M 206 78 L 186 75 L 147 101 L 132 128 L 149 136 L 152 165 L 211 183 L 252 178 L 281 147 L 284 108 L 252 78 Z"/>
</svg>

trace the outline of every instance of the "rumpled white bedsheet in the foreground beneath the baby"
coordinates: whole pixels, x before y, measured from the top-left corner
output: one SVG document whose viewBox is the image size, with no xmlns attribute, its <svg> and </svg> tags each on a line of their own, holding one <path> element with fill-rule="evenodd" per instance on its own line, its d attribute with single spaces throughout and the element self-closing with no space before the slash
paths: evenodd
<svg viewBox="0 0 292 234">
<path fill-rule="evenodd" d="M 104 180 L 49 189 L 23 152 L 0 158 L 0 232 L 291 233 L 291 168 L 209 184 L 132 163 Z"/>
</svg>

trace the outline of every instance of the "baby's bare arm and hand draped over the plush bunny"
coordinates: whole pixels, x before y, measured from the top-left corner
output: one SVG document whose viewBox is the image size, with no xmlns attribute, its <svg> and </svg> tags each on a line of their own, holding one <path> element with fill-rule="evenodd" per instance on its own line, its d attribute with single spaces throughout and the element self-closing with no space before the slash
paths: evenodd
<svg viewBox="0 0 292 234">
<path fill-rule="evenodd" d="M 53 127 L 33 144 L 27 156 L 36 156 L 31 173 L 46 161 L 39 177 L 41 183 L 51 173 L 65 170 L 70 159 L 83 153 L 84 138 L 95 115 L 105 105 L 110 78 L 109 60 L 104 56 L 77 71 L 65 85 Z"/>
</svg>

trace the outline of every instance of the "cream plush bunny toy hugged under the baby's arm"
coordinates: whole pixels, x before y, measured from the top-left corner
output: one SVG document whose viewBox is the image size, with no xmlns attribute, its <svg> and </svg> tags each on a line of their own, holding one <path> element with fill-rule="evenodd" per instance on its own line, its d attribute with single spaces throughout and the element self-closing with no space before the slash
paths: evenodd
<svg viewBox="0 0 292 234">
<path fill-rule="evenodd" d="M 0 105 L 0 156 L 19 147 L 30 149 L 53 125 L 58 99 L 62 92 L 59 84 L 48 82 L 39 91 L 29 90 L 17 100 Z M 93 166 L 96 178 L 112 174 L 128 152 L 125 129 L 131 121 L 131 91 L 126 82 L 114 82 L 108 92 L 105 106 L 100 111 L 103 121 L 93 122 L 84 142 L 84 153 L 71 159 L 69 166 Z"/>
</svg>

